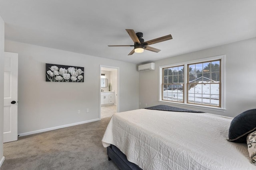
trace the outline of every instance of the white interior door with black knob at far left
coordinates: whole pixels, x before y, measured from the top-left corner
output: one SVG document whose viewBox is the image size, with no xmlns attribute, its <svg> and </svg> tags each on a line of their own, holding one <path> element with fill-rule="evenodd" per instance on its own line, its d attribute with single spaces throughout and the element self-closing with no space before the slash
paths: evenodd
<svg viewBox="0 0 256 170">
<path fill-rule="evenodd" d="M 18 54 L 4 52 L 4 143 L 18 140 Z"/>
</svg>

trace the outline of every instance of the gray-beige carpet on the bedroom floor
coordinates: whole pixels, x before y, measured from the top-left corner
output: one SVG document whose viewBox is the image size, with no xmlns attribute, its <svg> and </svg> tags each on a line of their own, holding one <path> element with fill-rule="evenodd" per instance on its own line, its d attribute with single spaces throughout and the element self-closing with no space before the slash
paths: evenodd
<svg viewBox="0 0 256 170">
<path fill-rule="evenodd" d="M 0 170 L 118 170 L 101 139 L 110 118 L 4 143 Z"/>
</svg>

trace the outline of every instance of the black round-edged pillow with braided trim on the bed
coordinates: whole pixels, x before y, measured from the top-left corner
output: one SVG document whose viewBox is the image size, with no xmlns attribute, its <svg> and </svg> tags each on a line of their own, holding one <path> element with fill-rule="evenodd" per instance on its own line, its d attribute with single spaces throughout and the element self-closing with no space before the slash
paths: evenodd
<svg viewBox="0 0 256 170">
<path fill-rule="evenodd" d="M 256 109 L 244 111 L 234 117 L 230 123 L 228 141 L 236 143 L 246 143 L 249 133 L 256 131 Z"/>
</svg>

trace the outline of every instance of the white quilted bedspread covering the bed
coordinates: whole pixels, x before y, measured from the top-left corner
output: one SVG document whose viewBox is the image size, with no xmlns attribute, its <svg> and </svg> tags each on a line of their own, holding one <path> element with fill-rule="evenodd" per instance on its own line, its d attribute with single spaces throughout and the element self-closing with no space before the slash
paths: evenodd
<svg viewBox="0 0 256 170">
<path fill-rule="evenodd" d="M 102 144 L 143 170 L 256 170 L 246 144 L 228 142 L 232 118 L 138 109 L 116 113 Z"/>
</svg>

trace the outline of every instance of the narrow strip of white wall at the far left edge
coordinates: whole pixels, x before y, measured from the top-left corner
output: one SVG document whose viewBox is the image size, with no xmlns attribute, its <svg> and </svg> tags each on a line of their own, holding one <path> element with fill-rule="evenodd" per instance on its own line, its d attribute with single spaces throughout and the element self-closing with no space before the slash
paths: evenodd
<svg viewBox="0 0 256 170">
<path fill-rule="evenodd" d="M 4 162 L 4 20 L 0 16 L 0 167 Z"/>
</svg>

